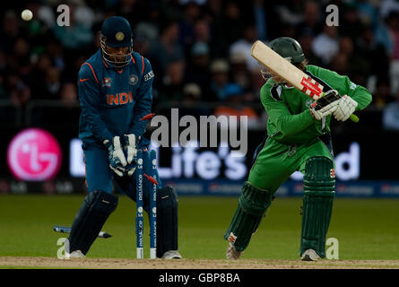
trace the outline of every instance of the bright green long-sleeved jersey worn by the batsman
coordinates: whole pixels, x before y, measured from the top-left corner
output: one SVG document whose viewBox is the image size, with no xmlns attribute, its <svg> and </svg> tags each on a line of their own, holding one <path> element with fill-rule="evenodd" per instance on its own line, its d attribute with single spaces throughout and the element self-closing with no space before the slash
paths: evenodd
<svg viewBox="0 0 399 287">
<path fill-rule="evenodd" d="M 334 89 L 356 100 L 356 110 L 365 109 L 371 101 L 370 92 L 347 76 L 316 65 L 308 65 L 304 72 L 321 83 L 324 91 Z M 308 143 L 330 131 L 331 115 L 322 120 L 313 118 L 308 109 L 314 100 L 294 87 L 269 79 L 260 91 L 260 99 L 268 115 L 267 135 L 280 143 Z"/>
</svg>

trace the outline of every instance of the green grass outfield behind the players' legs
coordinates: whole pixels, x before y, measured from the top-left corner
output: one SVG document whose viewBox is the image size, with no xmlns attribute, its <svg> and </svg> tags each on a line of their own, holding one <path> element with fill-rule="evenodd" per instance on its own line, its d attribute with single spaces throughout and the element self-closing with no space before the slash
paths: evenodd
<svg viewBox="0 0 399 287">
<path fill-rule="evenodd" d="M 83 196 L 0 196 L 0 257 L 56 257 L 56 224 L 71 226 Z M 223 240 L 238 197 L 179 197 L 179 250 L 186 258 L 222 259 Z M 301 198 L 276 198 L 243 258 L 298 259 Z M 135 258 L 135 204 L 119 204 L 88 257 Z M 148 224 L 145 225 L 148 257 Z M 339 258 L 399 259 L 399 200 L 335 198 L 327 238 L 339 240 Z"/>
</svg>

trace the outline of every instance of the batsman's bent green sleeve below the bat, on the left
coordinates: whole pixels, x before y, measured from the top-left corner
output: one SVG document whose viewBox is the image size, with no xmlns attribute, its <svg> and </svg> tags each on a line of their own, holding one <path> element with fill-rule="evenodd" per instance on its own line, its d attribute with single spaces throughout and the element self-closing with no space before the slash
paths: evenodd
<svg viewBox="0 0 399 287">
<path fill-rule="evenodd" d="M 272 96 L 271 88 L 271 84 L 265 84 L 262 87 L 261 101 L 269 120 L 283 136 L 298 134 L 314 122 L 308 109 L 297 115 L 292 115 L 283 100 Z"/>
</svg>

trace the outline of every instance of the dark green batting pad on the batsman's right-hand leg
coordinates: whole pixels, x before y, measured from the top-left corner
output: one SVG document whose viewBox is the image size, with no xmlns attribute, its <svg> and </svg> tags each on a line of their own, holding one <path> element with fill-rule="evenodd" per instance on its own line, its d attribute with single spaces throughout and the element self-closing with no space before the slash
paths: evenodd
<svg viewBox="0 0 399 287">
<path fill-rule="evenodd" d="M 299 256 L 314 249 L 325 257 L 325 236 L 331 220 L 334 201 L 334 164 L 325 157 L 313 157 L 305 166 L 303 178 L 303 212 Z"/>
</svg>

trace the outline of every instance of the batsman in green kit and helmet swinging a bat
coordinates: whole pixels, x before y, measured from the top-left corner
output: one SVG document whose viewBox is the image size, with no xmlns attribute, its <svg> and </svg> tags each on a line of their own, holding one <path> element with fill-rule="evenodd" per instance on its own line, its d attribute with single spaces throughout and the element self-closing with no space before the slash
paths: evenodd
<svg viewBox="0 0 399 287">
<path fill-rule="evenodd" d="M 256 149 L 239 206 L 224 234 L 229 241 L 226 257 L 241 257 L 274 193 L 299 170 L 304 175 L 299 257 L 317 261 L 325 257 L 325 236 L 333 212 L 335 171 L 330 122 L 332 117 L 346 121 L 356 110 L 365 109 L 371 94 L 345 75 L 308 65 L 295 39 L 274 39 L 269 48 L 320 83 L 325 96 L 315 102 L 262 68 L 266 83 L 260 99 L 268 115 L 267 136 Z"/>
</svg>

